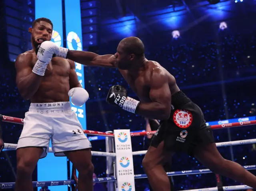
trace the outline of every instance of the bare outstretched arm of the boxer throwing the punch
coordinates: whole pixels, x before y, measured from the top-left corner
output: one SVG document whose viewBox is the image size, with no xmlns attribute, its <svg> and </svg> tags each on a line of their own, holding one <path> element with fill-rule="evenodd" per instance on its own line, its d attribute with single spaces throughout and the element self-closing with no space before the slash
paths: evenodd
<svg viewBox="0 0 256 191">
<path fill-rule="evenodd" d="M 115 57 L 112 54 L 106 54 L 106 55 L 100 56 L 93 52 L 69 50 L 66 58 L 86 66 L 115 68 L 114 66 Z"/>
</svg>

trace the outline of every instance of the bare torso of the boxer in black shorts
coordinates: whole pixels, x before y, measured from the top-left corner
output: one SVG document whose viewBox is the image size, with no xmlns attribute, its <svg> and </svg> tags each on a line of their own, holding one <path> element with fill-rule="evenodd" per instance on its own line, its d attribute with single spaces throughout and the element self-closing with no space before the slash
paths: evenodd
<svg viewBox="0 0 256 191">
<path fill-rule="evenodd" d="M 179 87 L 176 84 L 174 76 L 172 76 L 165 68 L 163 68 L 158 62 L 147 61 L 144 65 L 144 68 L 138 72 L 138 75 L 132 76 L 128 73 L 128 70 L 120 70 L 120 73 L 130 85 L 135 94 L 140 98 L 140 101 L 147 103 L 151 102 L 149 97 L 150 92 L 150 75 L 154 68 L 160 68 L 163 72 L 166 73 L 169 77 L 169 88 L 171 94 L 175 94 L 180 91 Z M 171 99 L 171 97 L 170 97 Z"/>
</svg>

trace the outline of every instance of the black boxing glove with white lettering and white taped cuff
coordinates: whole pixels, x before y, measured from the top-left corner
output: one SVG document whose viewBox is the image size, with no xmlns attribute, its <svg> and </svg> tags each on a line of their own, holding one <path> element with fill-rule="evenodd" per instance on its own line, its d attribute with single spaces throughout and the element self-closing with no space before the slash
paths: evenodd
<svg viewBox="0 0 256 191">
<path fill-rule="evenodd" d="M 122 109 L 135 113 L 140 101 L 127 96 L 127 91 L 120 85 L 112 86 L 108 92 L 106 102 L 111 105 L 118 105 Z"/>
</svg>

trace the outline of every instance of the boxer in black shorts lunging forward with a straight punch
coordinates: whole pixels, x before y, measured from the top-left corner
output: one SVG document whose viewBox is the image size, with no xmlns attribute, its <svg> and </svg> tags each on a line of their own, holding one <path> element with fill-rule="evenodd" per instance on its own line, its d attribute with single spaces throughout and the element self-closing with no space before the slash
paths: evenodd
<svg viewBox="0 0 256 191">
<path fill-rule="evenodd" d="M 54 43 L 43 42 L 41 47 L 43 45 L 50 47 L 47 51 L 52 54 L 60 52 Z M 110 88 L 106 101 L 126 111 L 162 120 L 142 161 L 154 191 L 170 191 L 163 165 L 170 162 L 176 152 L 191 153 L 214 173 L 256 188 L 256 176 L 220 155 L 201 109 L 180 91 L 174 76 L 157 62 L 145 58 L 139 38 L 121 40 L 115 55 L 67 50 L 64 58 L 87 66 L 97 63 L 117 68 L 140 101 L 128 97 L 120 85 Z"/>
</svg>

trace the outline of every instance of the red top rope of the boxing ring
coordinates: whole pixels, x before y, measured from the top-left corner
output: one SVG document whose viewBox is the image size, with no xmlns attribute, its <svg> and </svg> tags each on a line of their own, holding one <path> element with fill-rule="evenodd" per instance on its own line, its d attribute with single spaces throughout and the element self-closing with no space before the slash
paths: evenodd
<svg viewBox="0 0 256 191">
<path fill-rule="evenodd" d="M 10 122 L 10 123 L 18 123 L 18 124 L 23 124 L 23 119 L 17 118 L 17 117 L 9 117 L 6 115 L 3 115 L 2 121 Z M 229 127 L 240 127 L 240 126 L 246 126 L 246 125 L 255 125 L 256 120 L 252 121 L 241 121 L 241 122 L 236 122 L 236 123 L 226 123 L 222 125 L 211 125 L 212 129 L 221 129 L 221 128 L 229 128 Z M 84 130 L 84 133 L 89 134 L 89 135 L 102 135 L 102 136 L 109 136 L 109 137 L 114 137 L 113 133 L 104 133 L 100 131 L 91 131 L 91 130 Z M 138 132 L 138 133 L 131 133 L 131 136 L 144 136 L 144 135 L 154 135 L 156 131 L 143 131 L 143 132 Z"/>
</svg>

